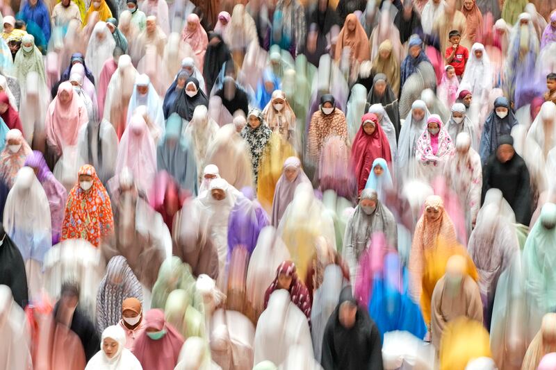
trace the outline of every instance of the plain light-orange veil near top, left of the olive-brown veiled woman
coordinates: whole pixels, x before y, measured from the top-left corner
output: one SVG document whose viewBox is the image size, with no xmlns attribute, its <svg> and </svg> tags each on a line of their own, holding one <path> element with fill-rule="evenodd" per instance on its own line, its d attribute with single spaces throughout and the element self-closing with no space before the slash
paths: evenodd
<svg viewBox="0 0 556 370">
<path fill-rule="evenodd" d="M 349 26 L 355 26 L 354 30 L 350 31 L 348 29 Z M 342 31 L 340 31 L 338 41 L 336 42 L 334 59 L 340 60 L 342 51 L 345 47 L 350 47 L 352 60 L 357 60 L 358 62 L 370 60 L 367 34 L 363 26 L 361 26 L 361 23 L 359 23 L 359 19 L 357 19 L 357 16 L 353 13 L 345 17 L 345 23 L 343 24 Z"/>
</svg>

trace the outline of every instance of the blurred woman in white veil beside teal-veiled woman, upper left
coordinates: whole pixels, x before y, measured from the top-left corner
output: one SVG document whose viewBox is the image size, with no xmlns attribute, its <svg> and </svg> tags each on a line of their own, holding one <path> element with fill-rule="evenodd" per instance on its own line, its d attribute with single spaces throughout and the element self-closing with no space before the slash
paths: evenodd
<svg viewBox="0 0 556 370">
<path fill-rule="evenodd" d="M 85 64 L 95 76 L 95 81 L 99 81 L 102 66 L 106 60 L 112 58 L 115 47 L 116 42 L 106 27 L 106 22 L 95 24 L 85 54 Z"/>
</svg>

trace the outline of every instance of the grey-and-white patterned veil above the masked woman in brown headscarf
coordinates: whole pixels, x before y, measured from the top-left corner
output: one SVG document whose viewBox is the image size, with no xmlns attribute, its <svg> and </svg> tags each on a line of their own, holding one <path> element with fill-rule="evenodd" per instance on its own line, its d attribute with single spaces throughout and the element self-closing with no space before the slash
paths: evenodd
<svg viewBox="0 0 556 370">
<path fill-rule="evenodd" d="M 139 280 L 122 255 L 111 258 L 106 266 L 97 293 L 97 330 L 102 333 L 108 326 L 116 325 L 122 317 L 122 304 L 126 298 L 143 299 Z"/>
</svg>

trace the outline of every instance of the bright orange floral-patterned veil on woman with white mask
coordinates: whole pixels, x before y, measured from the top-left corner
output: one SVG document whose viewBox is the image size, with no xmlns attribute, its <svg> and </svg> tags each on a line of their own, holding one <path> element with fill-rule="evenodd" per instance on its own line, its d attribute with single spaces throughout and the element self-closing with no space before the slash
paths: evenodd
<svg viewBox="0 0 556 370">
<path fill-rule="evenodd" d="M 79 186 L 79 176 L 92 177 L 92 187 L 84 192 Z M 65 217 L 62 224 L 62 236 L 65 239 L 85 239 L 94 246 L 99 246 L 101 237 L 114 229 L 112 205 L 108 192 L 97 176 L 95 167 L 83 165 L 78 172 L 78 182 L 67 197 Z"/>
</svg>

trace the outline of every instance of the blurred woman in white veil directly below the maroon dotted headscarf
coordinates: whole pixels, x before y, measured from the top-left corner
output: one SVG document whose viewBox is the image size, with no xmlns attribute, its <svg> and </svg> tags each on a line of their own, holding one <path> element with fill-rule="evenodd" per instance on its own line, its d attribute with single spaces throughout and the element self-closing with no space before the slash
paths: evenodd
<svg viewBox="0 0 556 370">
<path fill-rule="evenodd" d="M 281 364 L 295 346 L 313 357 L 311 331 L 307 318 L 284 289 L 270 295 L 255 330 L 254 363 L 269 360 Z"/>
</svg>

